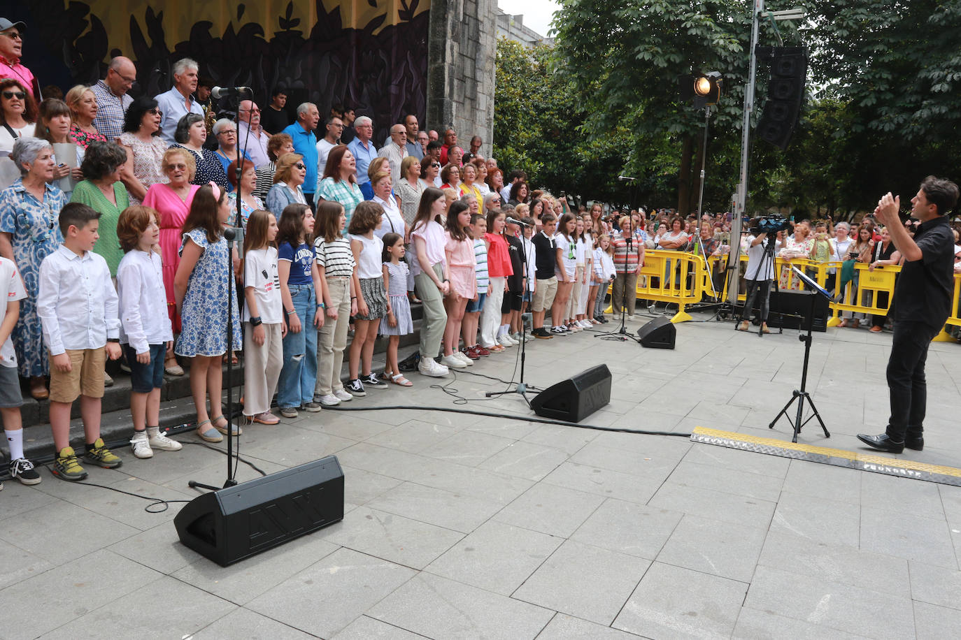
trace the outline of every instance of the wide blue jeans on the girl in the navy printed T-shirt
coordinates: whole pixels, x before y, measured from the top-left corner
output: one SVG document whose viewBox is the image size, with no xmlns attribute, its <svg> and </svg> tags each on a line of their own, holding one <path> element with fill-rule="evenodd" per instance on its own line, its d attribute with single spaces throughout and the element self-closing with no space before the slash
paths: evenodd
<svg viewBox="0 0 961 640">
<path fill-rule="evenodd" d="M 317 301 L 313 285 L 294 284 L 289 289 L 301 330 L 293 333 L 288 325 L 283 339 L 283 368 L 277 383 L 277 406 L 281 409 L 313 402 L 317 382 L 317 329 L 313 326 Z"/>
</svg>

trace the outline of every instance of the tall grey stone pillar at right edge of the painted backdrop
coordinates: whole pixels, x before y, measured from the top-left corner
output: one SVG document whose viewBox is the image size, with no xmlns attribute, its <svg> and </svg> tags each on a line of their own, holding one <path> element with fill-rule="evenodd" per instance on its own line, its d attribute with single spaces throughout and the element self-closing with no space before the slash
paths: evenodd
<svg viewBox="0 0 961 640">
<path fill-rule="evenodd" d="M 494 130 L 496 0 L 431 0 L 427 122 L 442 133 L 453 127 L 461 147 L 480 135 L 489 155 Z"/>
</svg>

